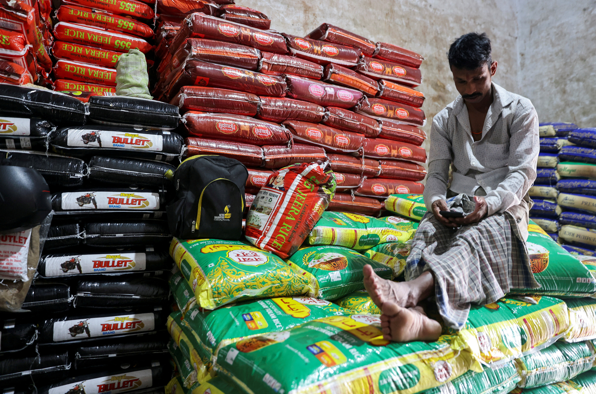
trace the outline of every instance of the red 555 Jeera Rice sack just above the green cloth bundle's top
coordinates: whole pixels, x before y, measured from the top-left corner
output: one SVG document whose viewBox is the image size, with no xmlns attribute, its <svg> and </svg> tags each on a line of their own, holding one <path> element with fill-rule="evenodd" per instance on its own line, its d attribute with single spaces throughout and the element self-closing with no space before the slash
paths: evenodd
<svg viewBox="0 0 596 394">
<path fill-rule="evenodd" d="M 109 51 L 128 52 L 129 49 L 137 48 L 146 54 L 153 48 L 150 43 L 139 37 L 68 22 L 58 22 L 54 26 L 54 37 L 61 41 L 76 42 Z"/>
</svg>

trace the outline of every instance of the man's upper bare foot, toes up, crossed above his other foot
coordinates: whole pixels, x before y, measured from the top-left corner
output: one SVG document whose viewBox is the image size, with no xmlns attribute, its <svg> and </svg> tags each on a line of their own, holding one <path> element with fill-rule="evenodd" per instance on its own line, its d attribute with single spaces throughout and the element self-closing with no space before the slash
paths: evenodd
<svg viewBox="0 0 596 394">
<path fill-rule="evenodd" d="M 386 302 L 409 308 L 418 305 L 421 299 L 431 295 L 434 279 L 430 272 L 408 282 L 393 282 L 378 276 L 370 265 L 364 266 L 364 288 L 377 307 Z"/>
</svg>

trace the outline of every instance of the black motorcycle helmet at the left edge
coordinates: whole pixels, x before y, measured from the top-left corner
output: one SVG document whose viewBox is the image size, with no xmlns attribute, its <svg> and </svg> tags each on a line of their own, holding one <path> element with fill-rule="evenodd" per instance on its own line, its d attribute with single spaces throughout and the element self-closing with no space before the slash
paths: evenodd
<svg viewBox="0 0 596 394">
<path fill-rule="evenodd" d="M 0 233 L 32 229 L 51 211 L 48 183 L 37 170 L 0 165 Z"/>
</svg>

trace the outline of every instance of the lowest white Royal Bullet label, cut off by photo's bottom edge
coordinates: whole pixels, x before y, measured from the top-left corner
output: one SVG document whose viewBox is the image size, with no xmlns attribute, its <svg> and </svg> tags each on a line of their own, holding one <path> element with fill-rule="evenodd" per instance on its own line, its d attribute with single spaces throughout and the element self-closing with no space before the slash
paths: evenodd
<svg viewBox="0 0 596 394">
<path fill-rule="evenodd" d="M 64 384 L 49 389 L 48 394 L 80 393 L 127 393 L 153 386 L 151 370 L 122 372 L 115 375 L 102 376 L 81 382 Z"/>
</svg>

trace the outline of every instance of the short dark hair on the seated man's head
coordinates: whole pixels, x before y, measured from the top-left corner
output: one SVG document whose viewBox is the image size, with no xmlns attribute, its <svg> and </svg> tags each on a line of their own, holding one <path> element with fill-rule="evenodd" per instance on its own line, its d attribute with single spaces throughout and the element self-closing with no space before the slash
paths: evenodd
<svg viewBox="0 0 596 394">
<path fill-rule="evenodd" d="M 447 52 L 449 67 L 476 70 L 485 63 L 491 68 L 491 40 L 486 33 L 468 33 L 456 39 Z"/>
</svg>

